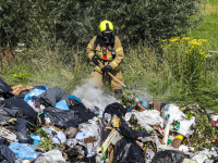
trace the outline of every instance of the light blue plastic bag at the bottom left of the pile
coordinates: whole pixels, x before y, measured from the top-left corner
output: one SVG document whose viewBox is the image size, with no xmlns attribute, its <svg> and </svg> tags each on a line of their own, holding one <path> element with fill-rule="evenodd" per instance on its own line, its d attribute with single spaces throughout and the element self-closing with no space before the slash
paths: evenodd
<svg viewBox="0 0 218 163">
<path fill-rule="evenodd" d="M 35 152 L 33 149 L 19 142 L 12 142 L 9 148 L 14 152 L 17 158 L 22 160 L 34 161 L 40 154 L 39 152 Z"/>
</svg>

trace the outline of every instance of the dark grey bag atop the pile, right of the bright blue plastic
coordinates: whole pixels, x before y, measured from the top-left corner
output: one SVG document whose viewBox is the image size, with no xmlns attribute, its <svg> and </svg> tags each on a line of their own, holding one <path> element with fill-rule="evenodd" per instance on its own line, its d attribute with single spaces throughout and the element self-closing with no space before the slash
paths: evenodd
<svg viewBox="0 0 218 163">
<path fill-rule="evenodd" d="M 56 106 L 56 103 L 62 100 L 65 100 L 68 106 L 71 105 L 65 91 L 62 89 L 48 88 L 39 97 L 36 98 L 35 105 L 39 106 L 40 104 L 44 104 L 46 108 Z"/>
</svg>

